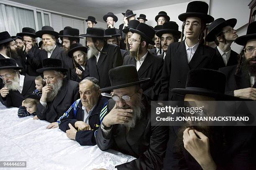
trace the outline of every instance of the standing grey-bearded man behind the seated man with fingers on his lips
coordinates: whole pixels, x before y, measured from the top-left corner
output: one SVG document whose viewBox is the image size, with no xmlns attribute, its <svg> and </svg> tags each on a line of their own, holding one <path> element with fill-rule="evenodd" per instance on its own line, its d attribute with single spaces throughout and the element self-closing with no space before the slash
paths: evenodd
<svg viewBox="0 0 256 170">
<path fill-rule="evenodd" d="M 59 37 L 59 32 L 54 31 L 50 26 L 43 26 L 42 30 L 36 32 L 36 36 L 42 38 L 44 50 L 39 53 L 41 68 L 43 65 L 43 60 L 46 58 L 57 58 L 61 59 L 61 47 L 56 45 L 56 40 Z"/>
</svg>

